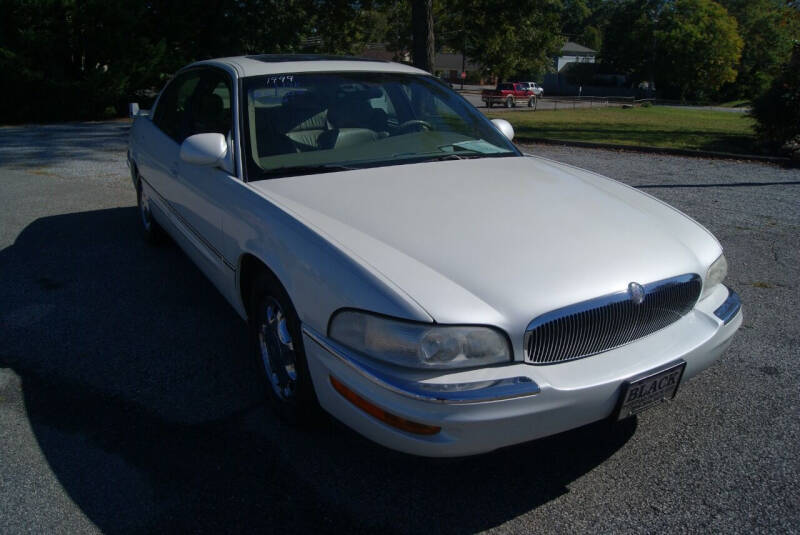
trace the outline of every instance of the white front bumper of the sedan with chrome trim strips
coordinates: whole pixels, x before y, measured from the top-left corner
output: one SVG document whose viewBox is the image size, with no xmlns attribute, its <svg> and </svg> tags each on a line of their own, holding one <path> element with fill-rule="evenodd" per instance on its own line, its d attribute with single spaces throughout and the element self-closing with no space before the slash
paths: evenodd
<svg viewBox="0 0 800 535">
<path fill-rule="evenodd" d="M 605 419 L 614 411 L 627 379 L 677 359 L 687 363 L 685 383 L 730 345 L 742 323 L 738 299 L 735 292 L 720 286 L 666 329 L 605 353 L 548 366 L 515 362 L 421 377 L 389 373 L 308 326 L 303 327 L 303 341 L 317 398 L 325 410 L 386 447 L 454 457 Z M 334 383 L 401 419 L 441 430 L 420 435 L 393 427 L 354 405 Z"/>
</svg>

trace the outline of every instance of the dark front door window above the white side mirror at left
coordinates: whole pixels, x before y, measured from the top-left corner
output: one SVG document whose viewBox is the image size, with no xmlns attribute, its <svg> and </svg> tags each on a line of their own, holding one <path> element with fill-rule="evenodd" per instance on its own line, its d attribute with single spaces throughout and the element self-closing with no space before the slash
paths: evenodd
<svg viewBox="0 0 800 535">
<path fill-rule="evenodd" d="M 231 82 L 228 76 L 208 71 L 191 100 L 191 127 L 188 135 L 217 133 L 231 129 Z"/>
</svg>

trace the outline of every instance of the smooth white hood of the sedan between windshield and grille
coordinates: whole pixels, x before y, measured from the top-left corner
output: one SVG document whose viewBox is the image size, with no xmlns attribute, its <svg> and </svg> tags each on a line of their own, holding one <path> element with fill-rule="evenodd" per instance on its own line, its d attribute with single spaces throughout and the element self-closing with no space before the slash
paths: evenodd
<svg viewBox="0 0 800 535">
<path fill-rule="evenodd" d="M 440 323 L 510 331 L 721 253 L 703 227 L 600 175 L 543 158 L 396 165 L 251 183 Z M 380 312 L 380 311 L 378 311 Z"/>
</svg>

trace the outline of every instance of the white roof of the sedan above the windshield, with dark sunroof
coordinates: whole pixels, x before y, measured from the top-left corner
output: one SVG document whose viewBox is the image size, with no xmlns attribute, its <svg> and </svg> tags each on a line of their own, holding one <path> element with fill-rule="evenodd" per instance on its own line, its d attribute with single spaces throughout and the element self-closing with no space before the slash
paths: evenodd
<svg viewBox="0 0 800 535">
<path fill-rule="evenodd" d="M 370 58 L 332 56 L 325 54 L 259 54 L 216 58 L 192 63 L 189 67 L 212 65 L 233 70 L 240 78 L 266 74 L 296 74 L 301 72 L 365 71 L 429 74 L 421 69 Z"/>
</svg>

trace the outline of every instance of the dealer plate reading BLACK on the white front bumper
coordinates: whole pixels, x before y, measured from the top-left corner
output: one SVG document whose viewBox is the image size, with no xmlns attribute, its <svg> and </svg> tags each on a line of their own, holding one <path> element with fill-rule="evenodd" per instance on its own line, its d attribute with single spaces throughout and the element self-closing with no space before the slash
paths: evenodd
<svg viewBox="0 0 800 535">
<path fill-rule="evenodd" d="M 638 414 L 645 409 L 675 397 L 686 362 L 680 361 L 657 368 L 622 384 L 617 420 Z"/>
</svg>

